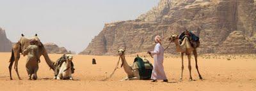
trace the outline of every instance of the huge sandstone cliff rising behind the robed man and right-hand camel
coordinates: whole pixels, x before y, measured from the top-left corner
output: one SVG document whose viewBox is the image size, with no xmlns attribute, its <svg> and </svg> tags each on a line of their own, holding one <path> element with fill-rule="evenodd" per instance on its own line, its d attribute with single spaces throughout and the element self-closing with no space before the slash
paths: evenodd
<svg viewBox="0 0 256 91">
<path fill-rule="evenodd" d="M 255 0 L 161 0 L 136 20 L 106 24 L 80 54 L 115 55 L 124 46 L 128 54 L 146 52 L 157 34 L 167 38 L 185 27 L 200 37 L 198 53 L 256 53 Z M 174 49 L 172 44 L 166 52 Z"/>
</svg>

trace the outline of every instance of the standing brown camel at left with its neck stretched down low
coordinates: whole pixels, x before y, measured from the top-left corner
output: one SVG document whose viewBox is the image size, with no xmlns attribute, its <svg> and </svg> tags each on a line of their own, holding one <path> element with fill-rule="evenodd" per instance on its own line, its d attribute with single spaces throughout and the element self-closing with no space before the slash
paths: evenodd
<svg viewBox="0 0 256 91">
<path fill-rule="evenodd" d="M 33 38 L 25 38 L 24 34 L 21 34 L 21 38 L 20 40 L 15 43 L 12 47 L 12 56 L 10 58 L 10 64 L 9 64 L 9 72 L 10 72 L 10 80 L 12 79 L 12 66 L 13 66 L 13 62 L 15 62 L 14 64 L 14 69 L 16 71 L 16 74 L 19 78 L 19 80 L 21 80 L 20 76 L 19 76 L 19 71 L 18 71 L 18 62 L 20 59 L 20 53 L 22 53 L 29 45 L 30 45 L 30 41 L 31 39 L 35 39 L 36 41 L 36 45 L 39 47 L 39 58 L 41 57 L 41 55 L 44 56 L 45 62 L 47 63 L 47 65 L 54 70 L 54 62 L 51 61 L 51 59 L 49 58 L 47 51 L 44 47 L 44 45 L 40 42 L 40 39 L 38 38 L 37 34 L 35 34 L 35 36 Z M 22 54 L 24 56 L 26 56 L 27 54 Z"/>
</svg>

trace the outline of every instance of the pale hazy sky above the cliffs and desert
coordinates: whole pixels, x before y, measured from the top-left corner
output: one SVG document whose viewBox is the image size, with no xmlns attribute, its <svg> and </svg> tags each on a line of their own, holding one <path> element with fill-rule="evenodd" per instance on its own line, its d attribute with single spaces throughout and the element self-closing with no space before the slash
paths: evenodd
<svg viewBox="0 0 256 91">
<path fill-rule="evenodd" d="M 134 20 L 159 0 L 0 0 L 0 27 L 12 42 L 20 34 L 38 34 L 43 43 L 56 43 L 79 53 L 102 31 L 104 24 Z"/>
</svg>

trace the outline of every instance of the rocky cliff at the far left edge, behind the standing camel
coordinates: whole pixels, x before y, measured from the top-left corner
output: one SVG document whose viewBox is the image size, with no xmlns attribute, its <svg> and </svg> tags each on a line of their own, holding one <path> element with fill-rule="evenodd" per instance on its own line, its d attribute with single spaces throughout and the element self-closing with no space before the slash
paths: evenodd
<svg viewBox="0 0 256 91">
<path fill-rule="evenodd" d="M 0 27 L 0 52 L 11 52 L 12 42 L 6 38 L 6 33 Z"/>
</svg>

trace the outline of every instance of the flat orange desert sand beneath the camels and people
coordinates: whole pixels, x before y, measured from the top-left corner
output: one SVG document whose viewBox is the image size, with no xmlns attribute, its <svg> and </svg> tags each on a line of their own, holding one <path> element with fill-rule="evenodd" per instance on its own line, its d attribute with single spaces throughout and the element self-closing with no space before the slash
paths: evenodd
<svg viewBox="0 0 256 91">
<path fill-rule="evenodd" d="M 25 62 L 26 57 L 20 57 L 19 73 L 22 80 L 18 80 L 14 69 L 13 79 L 10 80 L 8 65 L 10 53 L 0 53 L 0 90 L 19 91 L 52 91 L 52 90 L 189 90 L 189 91 L 255 91 L 256 90 L 256 55 L 199 55 L 198 65 L 204 80 L 199 80 L 195 69 L 195 61 L 192 60 L 192 76 L 195 81 L 189 80 L 188 61 L 184 60 L 184 80 L 180 77 L 180 58 L 166 55 L 164 59 L 164 70 L 169 83 L 158 81 L 152 83 L 150 80 L 119 81 L 126 75 L 124 69 L 117 69 L 116 73 L 107 81 L 101 81 L 113 71 L 118 56 L 93 56 L 74 55 L 75 74 L 74 81 L 53 80 L 53 71 L 49 70 L 44 57 L 38 70 L 39 80 L 29 81 Z M 50 54 L 51 60 L 56 61 L 61 55 Z M 135 55 L 126 57 L 132 64 Z M 92 65 L 92 59 L 97 61 Z M 146 57 L 153 62 L 153 59 Z M 186 58 L 186 57 L 184 57 Z"/>
</svg>

